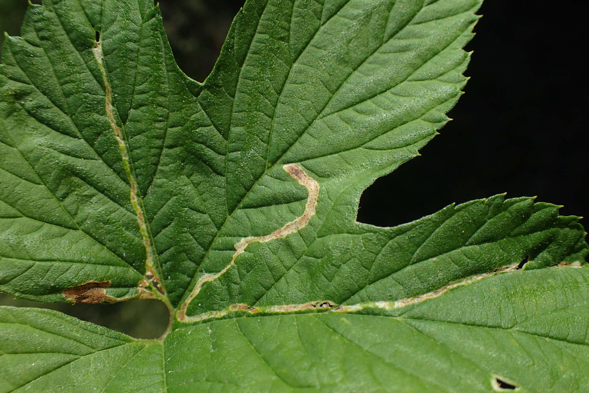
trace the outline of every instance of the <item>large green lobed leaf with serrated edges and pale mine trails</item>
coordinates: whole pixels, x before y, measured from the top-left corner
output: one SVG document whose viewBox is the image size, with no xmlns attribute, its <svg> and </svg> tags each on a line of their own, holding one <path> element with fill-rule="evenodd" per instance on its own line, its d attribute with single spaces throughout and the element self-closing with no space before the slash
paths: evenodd
<svg viewBox="0 0 589 393">
<path fill-rule="evenodd" d="M 578 217 L 499 195 L 356 222 L 449 120 L 480 3 L 249 0 L 202 84 L 150 0 L 30 5 L 0 66 L 0 290 L 171 318 L 142 341 L 2 308 L 0 391 L 589 388 Z"/>
</svg>

